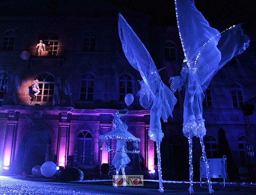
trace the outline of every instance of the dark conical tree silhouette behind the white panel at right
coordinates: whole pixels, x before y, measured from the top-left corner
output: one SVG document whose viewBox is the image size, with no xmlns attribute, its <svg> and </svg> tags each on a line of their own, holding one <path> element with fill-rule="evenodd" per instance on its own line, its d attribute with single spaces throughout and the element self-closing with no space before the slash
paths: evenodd
<svg viewBox="0 0 256 195">
<path fill-rule="evenodd" d="M 222 158 L 223 155 L 227 157 L 227 172 L 230 181 L 237 181 L 239 179 L 239 171 L 236 163 L 233 160 L 231 150 L 226 138 L 226 134 L 223 128 L 219 129 L 218 133 L 218 158 Z"/>
</svg>

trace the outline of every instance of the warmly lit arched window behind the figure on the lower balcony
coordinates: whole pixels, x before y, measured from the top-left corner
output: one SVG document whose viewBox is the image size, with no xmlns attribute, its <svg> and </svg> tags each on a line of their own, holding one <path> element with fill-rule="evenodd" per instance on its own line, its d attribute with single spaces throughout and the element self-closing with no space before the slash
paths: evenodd
<svg viewBox="0 0 256 195">
<path fill-rule="evenodd" d="M 32 97 L 31 101 L 39 105 L 52 105 L 55 79 L 49 73 L 38 74 L 35 79 L 39 81 L 40 93 Z"/>
</svg>

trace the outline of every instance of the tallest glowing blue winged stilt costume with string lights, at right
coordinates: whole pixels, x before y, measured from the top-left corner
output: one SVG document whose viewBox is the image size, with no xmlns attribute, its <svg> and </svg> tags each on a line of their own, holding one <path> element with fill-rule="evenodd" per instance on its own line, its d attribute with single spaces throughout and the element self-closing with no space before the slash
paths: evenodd
<svg viewBox="0 0 256 195">
<path fill-rule="evenodd" d="M 185 99 L 183 133 L 189 143 L 189 192 L 193 193 L 192 138 L 199 137 L 205 162 L 209 192 L 212 193 L 203 137 L 206 135 L 203 107 L 204 91 L 214 75 L 234 56 L 249 45 L 241 25 L 232 26 L 222 33 L 211 28 L 197 10 L 193 0 L 175 0 L 177 24 L 184 52 L 181 76 L 170 77 L 173 92 L 184 84 Z"/>
</svg>

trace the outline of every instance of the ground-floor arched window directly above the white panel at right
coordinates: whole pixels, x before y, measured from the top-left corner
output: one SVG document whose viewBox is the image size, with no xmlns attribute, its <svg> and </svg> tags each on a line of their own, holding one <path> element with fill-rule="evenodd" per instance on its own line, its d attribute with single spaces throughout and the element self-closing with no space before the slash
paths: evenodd
<svg viewBox="0 0 256 195">
<path fill-rule="evenodd" d="M 217 158 L 218 141 L 214 136 L 205 136 L 204 145 L 206 157 L 209 159 Z"/>
</svg>

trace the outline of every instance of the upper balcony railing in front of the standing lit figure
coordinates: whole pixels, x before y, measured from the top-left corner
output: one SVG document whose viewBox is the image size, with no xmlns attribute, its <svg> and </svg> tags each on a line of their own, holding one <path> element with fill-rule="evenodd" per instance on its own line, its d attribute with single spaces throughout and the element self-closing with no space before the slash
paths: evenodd
<svg viewBox="0 0 256 195">
<path fill-rule="evenodd" d="M 27 51 L 30 53 L 30 56 L 38 56 L 38 48 L 36 46 L 31 46 L 27 48 Z M 63 56 L 65 52 L 65 47 L 56 47 L 56 46 L 46 46 L 46 51 L 41 51 L 40 56 Z"/>
</svg>

